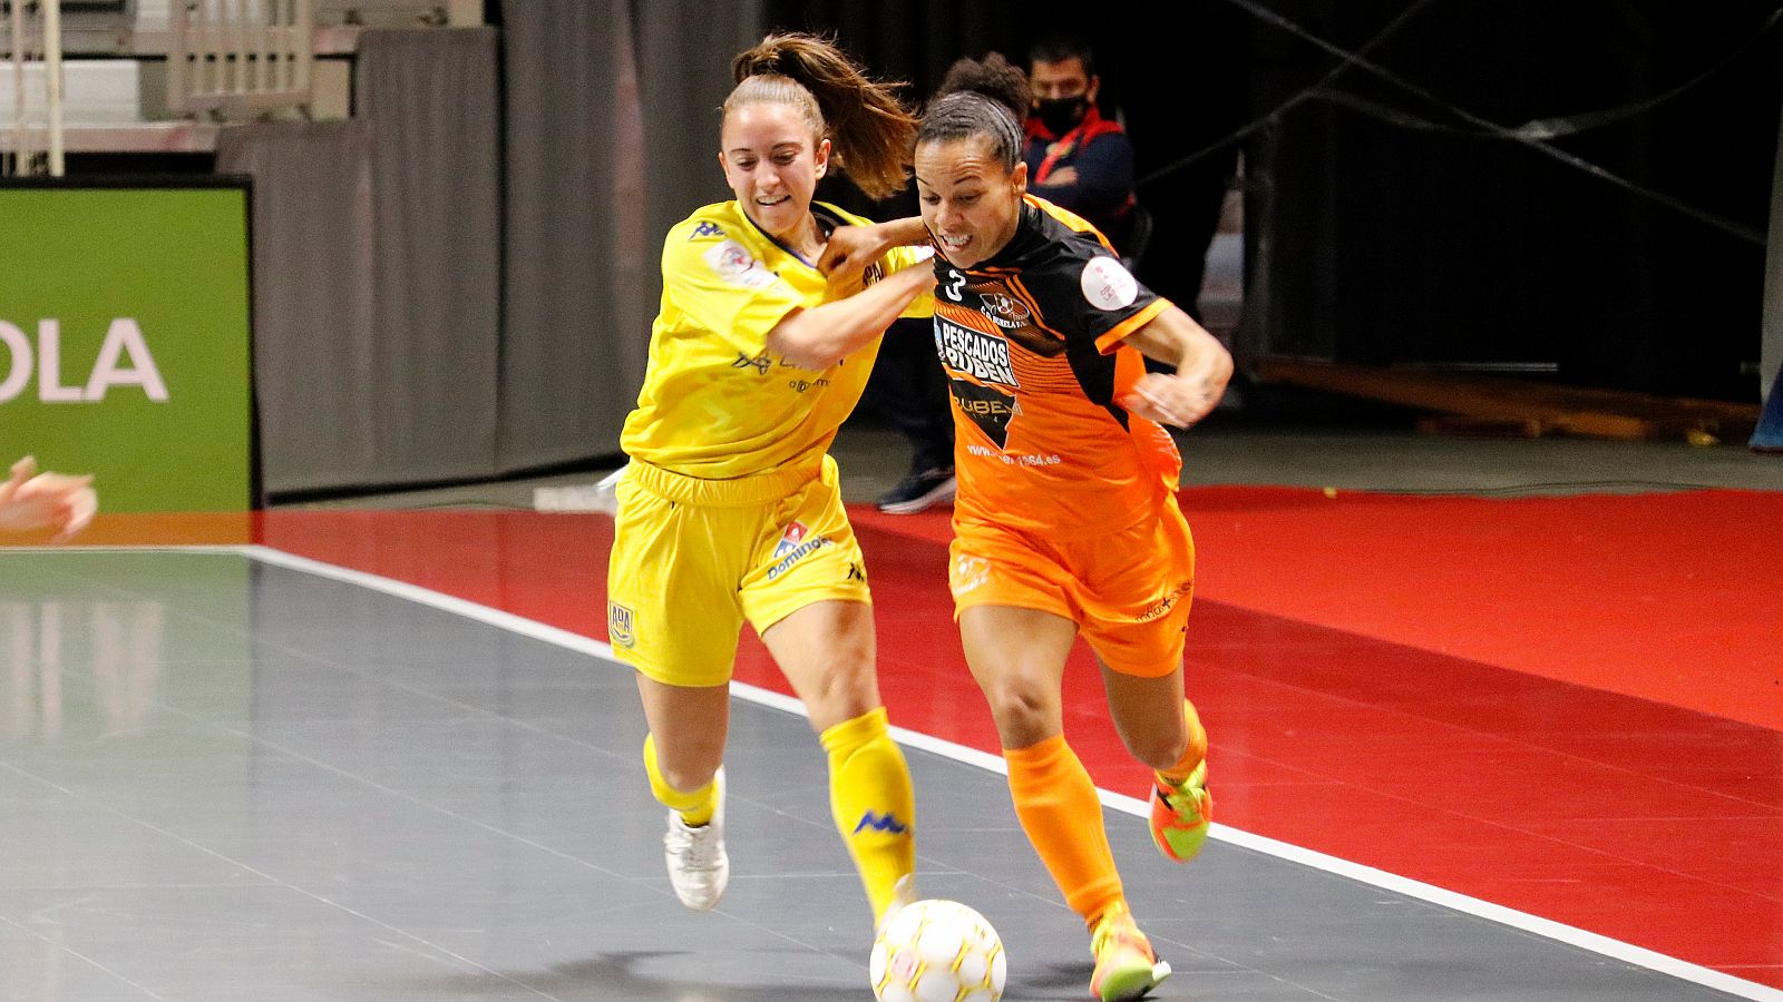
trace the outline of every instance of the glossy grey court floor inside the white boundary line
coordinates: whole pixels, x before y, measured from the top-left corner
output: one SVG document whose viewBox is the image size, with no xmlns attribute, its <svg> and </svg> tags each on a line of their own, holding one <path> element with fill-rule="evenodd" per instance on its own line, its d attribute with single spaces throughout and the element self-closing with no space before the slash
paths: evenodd
<svg viewBox="0 0 1783 1002">
<path fill-rule="evenodd" d="M 802 717 L 744 692 L 735 879 L 661 870 L 626 670 L 547 628 L 275 551 L 0 551 L 0 1000 L 870 998 L 870 918 Z M 984 756 L 911 738 L 920 883 L 984 911 L 1007 998 L 1086 936 Z M 1416 888 L 1107 813 L 1173 1000 L 1728 998 Z M 1387 881 L 1391 884 L 1391 881 Z"/>
</svg>

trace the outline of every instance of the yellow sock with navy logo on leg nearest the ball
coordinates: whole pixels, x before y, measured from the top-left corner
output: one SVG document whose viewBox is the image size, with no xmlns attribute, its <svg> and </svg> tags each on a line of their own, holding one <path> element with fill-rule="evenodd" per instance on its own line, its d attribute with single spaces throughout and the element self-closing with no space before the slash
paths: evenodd
<svg viewBox="0 0 1783 1002">
<path fill-rule="evenodd" d="M 826 729 L 818 742 L 829 752 L 829 811 L 861 872 L 877 925 L 899 879 L 916 868 L 909 765 L 886 729 L 884 706 Z"/>
</svg>

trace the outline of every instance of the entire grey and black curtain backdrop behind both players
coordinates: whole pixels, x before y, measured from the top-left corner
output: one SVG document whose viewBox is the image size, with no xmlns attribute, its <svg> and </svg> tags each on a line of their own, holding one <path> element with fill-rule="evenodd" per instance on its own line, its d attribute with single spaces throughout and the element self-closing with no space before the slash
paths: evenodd
<svg viewBox="0 0 1783 1002">
<path fill-rule="evenodd" d="M 1758 32 L 1776 0 L 1248 5 L 526 0 L 492 4 L 489 29 L 367 32 L 353 121 L 219 141 L 219 169 L 255 177 L 266 489 L 617 458 L 661 234 L 727 198 L 717 107 L 731 55 L 770 27 L 834 32 L 913 100 L 959 55 L 1025 61 L 1043 32 L 1084 34 L 1157 216 L 1148 285 L 1193 303 L 1243 155 L 1241 364 L 1546 364 L 1576 385 L 1756 399 L 1783 118 L 1783 30 Z M 1269 16 L 1428 96 L 1359 66 L 1314 87 L 1339 57 Z M 1624 105 L 1553 144 L 1658 200 L 1458 114 Z M 915 210 L 843 178 L 822 194 Z"/>
</svg>

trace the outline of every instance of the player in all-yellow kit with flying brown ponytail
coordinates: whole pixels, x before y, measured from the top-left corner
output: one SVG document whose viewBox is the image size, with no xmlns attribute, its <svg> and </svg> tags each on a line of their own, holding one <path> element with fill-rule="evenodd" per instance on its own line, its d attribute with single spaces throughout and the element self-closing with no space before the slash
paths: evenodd
<svg viewBox="0 0 1783 1002">
<path fill-rule="evenodd" d="M 608 635 L 637 669 L 644 768 L 669 808 L 669 877 L 710 909 L 729 877 L 724 747 L 736 640 L 760 633 L 829 758 L 831 809 L 877 924 L 909 893 L 909 768 L 886 729 L 865 563 L 827 449 L 879 335 L 927 316 L 915 248 L 824 275 L 813 201 L 840 160 L 872 196 L 908 178 L 915 118 L 826 39 L 768 36 L 733 61 L 719 164 L 735 200 L 663 242 L 661 310 L 620 446 Z M 900 886 L 902 883 L 902 886 Z"/>
</svg>

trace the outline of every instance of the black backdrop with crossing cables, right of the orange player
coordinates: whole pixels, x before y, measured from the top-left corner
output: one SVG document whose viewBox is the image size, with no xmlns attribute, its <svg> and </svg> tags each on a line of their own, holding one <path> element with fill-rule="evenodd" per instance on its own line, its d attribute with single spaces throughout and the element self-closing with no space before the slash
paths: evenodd
<svg viewBox="0 0 1783 1002">
<path fill-rule="evenodd" d="M 1405 0 L 1269 7 L 1373 43 L 1430 96 L 1350 68 L 1307 100 L 1337 59 L 1257 29 L 1255 109 L 1289 111 L 1250 144 L 1250 355 L 1546 365 L 1567 385 L 1756 399 L 1783 100 L 1783 32 L 1760 36 L 1772 0 L 1442 0 L 1385 36 Z M 1553 139 L 1587 171 L 1455 109 L 1503 127 L 1626 112 Z"/>
</svg>

